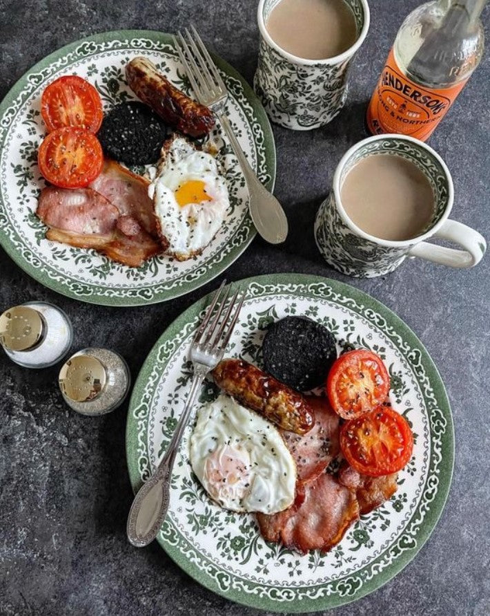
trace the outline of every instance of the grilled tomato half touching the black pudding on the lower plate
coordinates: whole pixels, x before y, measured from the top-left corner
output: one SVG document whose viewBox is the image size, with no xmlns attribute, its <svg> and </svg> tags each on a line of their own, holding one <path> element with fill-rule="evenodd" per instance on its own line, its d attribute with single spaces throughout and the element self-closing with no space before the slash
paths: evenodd
<svg viewBox="0 0 490 616">
<path fill-rule="evenodd" d="M 382 404 L 390 377 L 381 357 L 365 348 L 335 360 L 326 380 L 331 407 L 344 419 L 354 419 Z"/>
</svg>

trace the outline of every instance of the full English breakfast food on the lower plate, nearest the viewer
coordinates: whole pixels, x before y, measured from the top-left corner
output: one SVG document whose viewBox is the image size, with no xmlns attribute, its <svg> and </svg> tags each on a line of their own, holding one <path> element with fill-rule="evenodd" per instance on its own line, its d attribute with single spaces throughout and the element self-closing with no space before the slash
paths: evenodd
<svg viewBox="0 0 490 616">
<path fill-rule="evenodd" d="M 198 413 L 190 463 L 213 501 L 256 514 L 266 541 L 327 552 L 396 492 L 411 427 L 391 407 L 382 358 L 365 348 L 337 357 L 312 319 L 269 324 L 263 352 L 275 375 L 230 357 L 213 370 L 222 393 Z"/>
</svg>

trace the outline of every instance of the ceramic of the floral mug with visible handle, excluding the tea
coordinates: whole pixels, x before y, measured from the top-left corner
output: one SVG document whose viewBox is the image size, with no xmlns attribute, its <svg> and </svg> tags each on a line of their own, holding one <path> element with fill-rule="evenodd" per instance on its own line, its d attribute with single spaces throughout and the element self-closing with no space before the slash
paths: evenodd
<svg viewBox="0 0 490 616">
<path fill-rule="evenodd" d="M 431 184 L 433 217 L 413 239 L 389 241 L 370 235 L 351 221 L 342 205 L 340 190 L 349 171 L 363 158 L 380 154 L 410 160 Z M 482 259 L 487 243 L 471 227 L 449 219 L 452 207 L 451 174 L 444 160 L 431 147 L 404 135 L 369 137 L 351 147 L 335 170 L 333 189 L 317 213 L 315 240 L 326 262 L 348 276 L 382 276 L 398 268 L 406 256 L 419 256 L 452 268 L 472 268 Z M 450 241 L 462 250 L 429 243 L 427 240 L 431 237 Z"/>
</svg>

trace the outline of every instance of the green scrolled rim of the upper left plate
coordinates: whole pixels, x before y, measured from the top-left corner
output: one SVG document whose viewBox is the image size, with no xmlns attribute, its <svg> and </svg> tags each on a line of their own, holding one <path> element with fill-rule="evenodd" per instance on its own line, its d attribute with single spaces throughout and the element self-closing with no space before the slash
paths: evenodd
<svg viewBox="0 0 490 616">
<path fill-rule="evenodd" d="M 151 30 L 121 30 L 105 32 L 75 41 L 44 58 L 15 84 L 0 104 L 0 152 L 9 137 L 10 127 L 17 113 L 50 75 L 60 68 L 76 64 L 81 58 L 92 57 L 108 50 L 161 50 L 171 45 L 170 35 Z M 239 102 L 247 118 L 255 144 L 258 160 L 258 174 L 268 187 L 273 189 L 275 180 L 275 146 L 270 124 L 259 100 L 243 77 L 223 60 L 215 57 L 219 68 L 229 78 L 232 95 Z M 56 272 L 45 263 L 42 256 L 35 254 L 21 239 L 6 214 L 3 192 L 6 192 L 5 178 L 0 192 L 0 244 L 7 254 L 30 276 L 63 295 L 94 304 L 115 306 L 137 306 L 166 301 L 202 286 L 223 272 L 246 250 L 255 236 L 250 217 L 246 216 L 225 250 L 217 252 L 204 263 L 174 281 L 160 281 L 143 288 L 110 288 L 101 283 L 84 283 L 70 277 L 66 272 Z"/>
</svg>

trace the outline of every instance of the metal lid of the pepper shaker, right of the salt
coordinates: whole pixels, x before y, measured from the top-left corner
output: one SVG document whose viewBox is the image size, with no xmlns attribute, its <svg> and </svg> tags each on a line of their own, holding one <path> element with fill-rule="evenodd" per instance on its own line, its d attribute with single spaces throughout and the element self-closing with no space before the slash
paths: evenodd
<svg viewBox="0 0 490 616">
<path fill-rule="evenodd" d="M 73 402 L 87 402 L 97 398 L 106 385 L 104 365 L 96 357 L 75 355 L 61 366 L 59 386 L 66 398 Z"/>
</svg>

